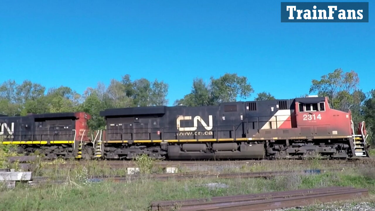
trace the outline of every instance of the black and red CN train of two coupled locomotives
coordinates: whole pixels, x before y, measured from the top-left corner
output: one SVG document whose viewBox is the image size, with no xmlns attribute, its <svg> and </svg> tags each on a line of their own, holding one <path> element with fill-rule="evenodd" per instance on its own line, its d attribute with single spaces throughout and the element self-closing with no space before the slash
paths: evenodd
<svg viewBox="0 0 375 211">
<path fill-rule="evenodd" d="M 3 144 L 48 158 L 169 160 L 346 159 L 368 157 L 365 122 L 331 109 L 327 97 L 223 102 L 217 106 L 132 107 L 100 113 L 106 129 L 90 131 L 90 115 L 52 113 L 0 117 Z"/>
</svg>

